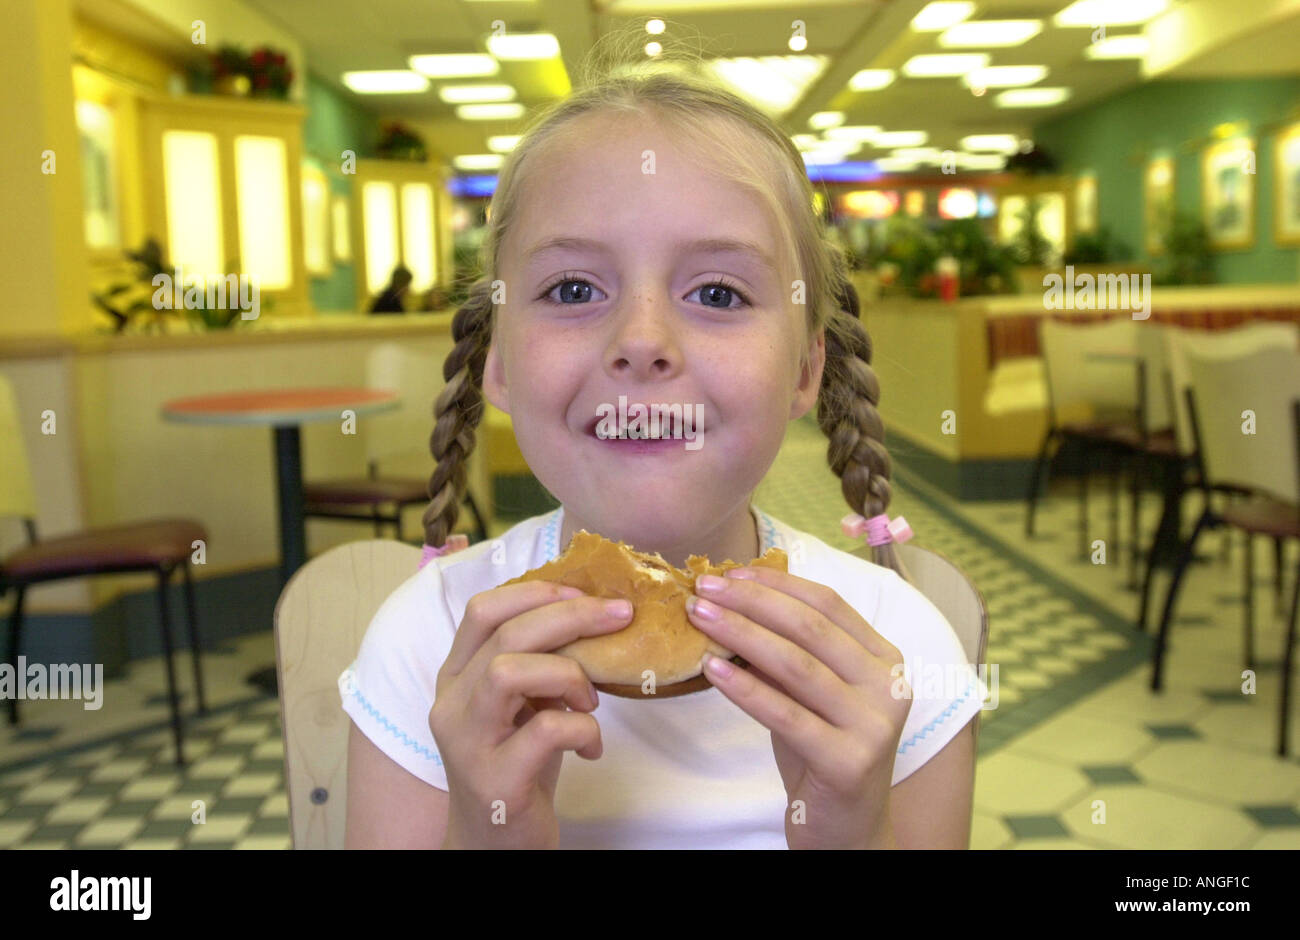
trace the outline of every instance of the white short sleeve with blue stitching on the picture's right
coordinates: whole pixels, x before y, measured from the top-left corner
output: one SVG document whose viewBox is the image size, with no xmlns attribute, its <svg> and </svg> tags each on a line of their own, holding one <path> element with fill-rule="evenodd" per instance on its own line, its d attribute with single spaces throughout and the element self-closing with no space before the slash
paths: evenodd
<svg viewBox="0 0 1300 940">
<path fill-rule="evenodd" d="M 952 625 L 930 599 L 889 572 L 872 627 L 904 655 L 911 709 L 898 738 L 893 784 L 941 751 L 988 696 Z"/>
</svg>

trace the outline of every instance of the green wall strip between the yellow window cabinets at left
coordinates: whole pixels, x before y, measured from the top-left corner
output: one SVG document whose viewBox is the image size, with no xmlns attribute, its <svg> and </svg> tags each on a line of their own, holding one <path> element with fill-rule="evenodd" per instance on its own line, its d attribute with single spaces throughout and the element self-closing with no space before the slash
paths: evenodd
<svg viewBox="0 0 1300 940">
<path fill-rule="evenodd" d="M 370 156 L 378 139 L 378 120 L 315 75 L 307 77 L 307 120 L 303 125 L 306 159 L 325 172 L 330 192 L 351 196 L 352 178 L 341 172 L 343 151 Z M 355 259 L 354 246 L 354 259 Z M 356 307 L 356 273 L 352 264 L 334 261 L 330 277 L 311 278 L 316 309 L 351 311 Z"/>
</svg>

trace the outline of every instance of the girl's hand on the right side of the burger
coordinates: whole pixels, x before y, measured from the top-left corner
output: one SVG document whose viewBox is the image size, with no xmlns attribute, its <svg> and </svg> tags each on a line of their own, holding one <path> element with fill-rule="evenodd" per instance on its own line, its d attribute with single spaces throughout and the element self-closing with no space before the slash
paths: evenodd
<svg viewBox="0 0 1300 940">
<path fill-rule="evenodd" d="M 786 844 L 894 848 L 889 787 L 911 709 L 902 654 L 837 593 L 784 571 L 732 568 L 696 592 L 690 621 L 750 664 L 711 657 L 705 675 L 772 732 Z"/>
</svg>

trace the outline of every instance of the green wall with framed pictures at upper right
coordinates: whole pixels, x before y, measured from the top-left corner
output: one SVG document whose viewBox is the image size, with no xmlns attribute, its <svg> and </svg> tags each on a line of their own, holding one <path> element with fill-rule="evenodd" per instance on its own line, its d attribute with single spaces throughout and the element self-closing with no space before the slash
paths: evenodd
<svg viewBox="0 0 1300 940">
<path fill-rule="evenodd" d="M 1034 130 L 1066 173 L 1097 176 L 1098 224 L 1145 259 L 1143 170 L 1148 159 L 1175 163 L 1178 208 L 1200 213 L 1201 151 L 1219 124 L 1244 121 L 1256 146 L 1256 238 L 1216 254 L 1221 283 L 1295 283 L 1300 251 L 1273 239 L 1274 134 L 1294 122 L 1300 77 L 1149 82 Z M 1288 120 L 1288 113 L 1291 114 Z"/>
</svg>

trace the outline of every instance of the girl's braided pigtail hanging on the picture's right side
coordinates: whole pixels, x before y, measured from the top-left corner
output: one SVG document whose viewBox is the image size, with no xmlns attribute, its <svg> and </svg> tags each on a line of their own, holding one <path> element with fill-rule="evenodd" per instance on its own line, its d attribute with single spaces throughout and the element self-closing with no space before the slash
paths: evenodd
<svg viewBox="0 0 1300 940">
<path fill-rule="evenodd" d="M 884 423 L 876 411 L 880 381 L 871 368 L 871 337 L 858 320 L 858 291 L 848 277 L 840 281 L 837 300 L 837 309 L 826 324 L 818 425 L 831 441 L 827 459 L 840 477 L 845 501 L 854 512 L 871 519 L 885 512 L 892 495 L 892 462 L 884 445 Z M 910 580 L 893 543 L 872 546 L 871 560 Z"/>
</svg>

